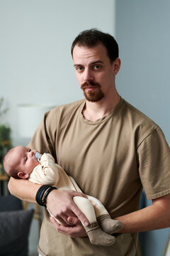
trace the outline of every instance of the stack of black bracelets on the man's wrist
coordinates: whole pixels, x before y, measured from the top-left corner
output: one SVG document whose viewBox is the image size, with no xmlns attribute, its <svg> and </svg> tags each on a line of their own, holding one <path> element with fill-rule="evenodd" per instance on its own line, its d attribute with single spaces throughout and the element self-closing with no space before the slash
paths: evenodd
<svg viewBox="0 0 170 256">
<path fill-rule="evenodd" d="M 52 189 L 57 189 L 53 186 L 49 186 L 49 185 L 42 185 L 40 186 L 40 188 L 38 189 L 37 193 L 36 193 L 36 196 L 35 196 L 35 200 L 36 202 L 40 205 L 40 206 L 45 206 L 45 198 L 47 198 L 47 195 L 50 193 L 50 191 L 52 191 Z M 46 191 L 46 193 L 45 193 Z M 48 193 L 47 193 L 48 191 Z M 42 201 L 43 199 L 43 201 Z"/>
</svg>

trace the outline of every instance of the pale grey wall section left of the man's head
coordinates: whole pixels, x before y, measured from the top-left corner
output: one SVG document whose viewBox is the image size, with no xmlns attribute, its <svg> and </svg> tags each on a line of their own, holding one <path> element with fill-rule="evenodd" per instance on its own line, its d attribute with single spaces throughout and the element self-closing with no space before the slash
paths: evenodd
<svg viewBox="0 0 170 256">
<path fill-rule="evenodd" d="M 114 35 L 114 0 L 0 0 L 0 97 L 18 137 L 22 103 L 61 105 L 83 97 L 70 47 L 84 29 Z M 2 120 L 0 120 L 2 122 Z"/>
</svg>

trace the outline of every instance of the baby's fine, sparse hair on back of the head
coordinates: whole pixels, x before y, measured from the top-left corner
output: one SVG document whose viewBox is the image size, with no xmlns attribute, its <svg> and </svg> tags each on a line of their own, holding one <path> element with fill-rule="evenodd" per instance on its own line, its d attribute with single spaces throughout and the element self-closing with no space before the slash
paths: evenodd
<svg viewBox="0 0 170 256">
<path fill-rule="evenodd" d="M 6 171 L 6 174 L 8 176 L 11 176 L 13 178 L 20 178 L 18 176 L 18 170 L 16 169 L 16 166 L 10 161 L 11 155 L 13 154 L 13 151 L 16 149 L 16 147 L 13 147 L 12 149 L 9 149 L 8 152 L 4 155 L 4 170 Z"/>
</svg>

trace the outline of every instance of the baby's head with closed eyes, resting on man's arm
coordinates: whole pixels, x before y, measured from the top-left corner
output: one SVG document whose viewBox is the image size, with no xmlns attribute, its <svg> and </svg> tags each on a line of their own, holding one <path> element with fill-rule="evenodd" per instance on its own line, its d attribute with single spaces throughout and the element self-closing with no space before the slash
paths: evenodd
<svg viewBox="0 0 170 256">
<path fill-rule="evenodd" d="M 26 146 L 15 146 L 4 156 L 4 169 L 6 174 L 13 178 L 29 178 L 31 172 L 38 166 L 39 161 L 35 158 L 36 150 Z"/>
</svg>

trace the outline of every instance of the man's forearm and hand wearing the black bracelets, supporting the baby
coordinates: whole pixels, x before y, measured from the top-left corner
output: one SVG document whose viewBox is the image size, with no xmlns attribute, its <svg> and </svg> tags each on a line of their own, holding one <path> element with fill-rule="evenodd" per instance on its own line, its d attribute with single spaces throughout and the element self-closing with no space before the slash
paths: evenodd
<svg viewBox="0 0 170 256">
<path fill-rule="evenodd" d="M 35 195 L 41 185 L 28 180 L 10 178 L 8 189 L 10 193 L 21 200 L 36 203 Z M 71 225 L 68 218 L 74 217 L 75 223 L 88 225 L 89 221 L 73 201 L 74 196 L 84 196 L 83 193 L 71 190 L 53 190 L 47 196 L 47 208 L 63 225 Z M 78 219 L 77 219 L 78 218 Z"/>
</svg>

